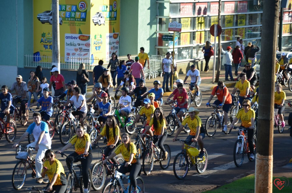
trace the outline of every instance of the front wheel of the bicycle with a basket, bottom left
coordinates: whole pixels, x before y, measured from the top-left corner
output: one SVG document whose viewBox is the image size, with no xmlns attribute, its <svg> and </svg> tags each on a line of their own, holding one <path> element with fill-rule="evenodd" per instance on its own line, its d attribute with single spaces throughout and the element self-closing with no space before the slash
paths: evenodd
<svg viewBox="0 0 292 193">
<path fill-rule="evenodd" d="M 26 179 L 26 165 L 24 161 L 19 161 L 12 172 L 12 186 L 15 190 L 23 187 Z"/>
</svg>

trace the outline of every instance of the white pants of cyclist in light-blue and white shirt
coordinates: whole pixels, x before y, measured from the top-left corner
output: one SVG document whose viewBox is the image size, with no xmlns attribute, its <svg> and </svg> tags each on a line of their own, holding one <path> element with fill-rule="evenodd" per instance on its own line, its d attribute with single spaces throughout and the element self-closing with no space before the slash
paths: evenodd
<svg viewBox="0 0 292 193">
<path fill-rule="evenodd" d="M 36 141 L 34 141 L 33 143 L 30 143 L 27 145 L 27 147 L 35 147 L 36 146 Z M 43 168 L 43 157 L 45 157 L 45 152 L 51 149 L 50 146 L 48 145 L 43 145 L 43 144 L 39 144 L 39 150 L 36 153 L 36 157 L 35 157 L 35 161 L 36 161 L 36 177 L 42 177 L 41 176 L 41 172 L 42 172 L 42 168 Z"/>
</svg>

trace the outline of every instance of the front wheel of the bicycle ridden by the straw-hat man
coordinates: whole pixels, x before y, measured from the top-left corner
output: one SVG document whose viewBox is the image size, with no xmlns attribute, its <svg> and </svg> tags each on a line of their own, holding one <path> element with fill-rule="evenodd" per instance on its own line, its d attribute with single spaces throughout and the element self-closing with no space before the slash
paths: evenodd
<svg viewBox="0 0 292 193">
<path fill-rule="evenodd" d="M 188 156 L 181 152 L 176 155 L 173 161 L 173 173 L 177 179 L 182 180 L 189 172 Z"/>
</svg>

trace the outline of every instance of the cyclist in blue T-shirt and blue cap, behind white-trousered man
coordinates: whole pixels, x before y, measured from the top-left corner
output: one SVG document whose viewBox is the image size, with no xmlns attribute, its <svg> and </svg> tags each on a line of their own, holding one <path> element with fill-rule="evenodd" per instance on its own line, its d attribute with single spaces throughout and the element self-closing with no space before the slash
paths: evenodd
<svg viewBox="0 0 292 193">
<path fill-rule="evenodd" d="M 49 96 L 49 91 L 50 91 L 49 88 L 44 88 L 43 96 L 39 100 L 31 104 L 29 107 L 27 107 L 27 109 L 29 109 L 37 104 L 40 104 L 42 106 L 40 110 L 40 115 L 42 117 L 43 122 L 47 122 L 47 120 L 49 120 L 53 114 L 53 108 L 52 108 L 53 97 Z"/>
</svg>

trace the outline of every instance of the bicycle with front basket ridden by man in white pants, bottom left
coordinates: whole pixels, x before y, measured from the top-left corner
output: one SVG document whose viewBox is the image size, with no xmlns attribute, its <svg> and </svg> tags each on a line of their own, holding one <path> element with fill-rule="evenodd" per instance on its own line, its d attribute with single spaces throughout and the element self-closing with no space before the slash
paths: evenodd
<svg viewBox="0 0 292 193">
<path fill-rule="evenodd" d="M 26 176 L 27 176 L 27 169 L 32 169 L 32 178 L 36 177 L 35 165 L 32 155 L 33 147 L 22 147 L 21 145 L 18 146 L 16 149 L 15 158 L 19 160 L 12 172 L 12 186 L 15 190 L 19 190 L 23 187 Z M 31 158 L 30 158 L 31 157 Z M 43 162 L 45 160 L 43 159 Z M 43 180 L 44 184 L 49 183 L 49 178 L 45 177 L 46 179 Z"/>
</svg>

